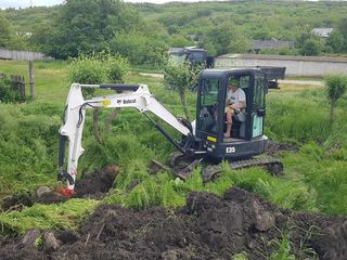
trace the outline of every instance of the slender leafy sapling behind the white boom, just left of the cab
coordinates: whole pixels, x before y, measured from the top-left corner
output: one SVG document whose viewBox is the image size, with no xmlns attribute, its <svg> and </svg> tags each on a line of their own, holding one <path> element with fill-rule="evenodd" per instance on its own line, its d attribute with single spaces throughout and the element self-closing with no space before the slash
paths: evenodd
<svg viewBox="0 0 347 260">
<path fill-rule="evenodd" d="M 185 100 L 185 92 L 197 84 L 201 70 L 202 66 L 200 65 L 192 65 L 188 62 L 177 63 L 171 61 L 166 65 L 164 72 L 164 83 L 169 89 L 176 90 L 179 93 L 184 116 L 189 121 L 191 119 Z"/>
</svg>

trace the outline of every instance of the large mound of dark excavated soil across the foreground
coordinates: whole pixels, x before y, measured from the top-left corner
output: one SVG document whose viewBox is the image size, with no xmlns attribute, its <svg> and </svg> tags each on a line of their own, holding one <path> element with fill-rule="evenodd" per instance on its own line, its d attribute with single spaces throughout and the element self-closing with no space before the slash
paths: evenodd
<svg viewBox="0 0 347 260">
<path fill-rule="evenodd" d="M 267 259 L 283 235 L 298 259 L 347 259 L 347 219 L 283 210 L 232 187 L 220 198 L 192 192 L 187 206 L 133 210 L 101 206 L 77 232 L 56 231 L 56 250 L 0 237 L 0 259 Z M 44 248 L 44 247 L 43 247 Z"/>
</svg>

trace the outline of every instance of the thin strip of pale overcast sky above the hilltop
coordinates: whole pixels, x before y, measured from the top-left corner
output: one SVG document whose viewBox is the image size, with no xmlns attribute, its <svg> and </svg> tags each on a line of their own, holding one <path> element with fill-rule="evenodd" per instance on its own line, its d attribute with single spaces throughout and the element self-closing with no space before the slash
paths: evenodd
<svg viewBox="0 0 347 260">
<path fill-rule="evenodd" d="M 153 2 L 153 3 L 165 3 L 165 2 L 196 2 L 197 0 L 125 0 L 125 2 Z M 202 1 L 202 0 L 201 0 Z M 0 8 L 28 8 L 38 5 L 55 5 L 62 3 L 63 0 L 0 0 Z"/>
</svg>

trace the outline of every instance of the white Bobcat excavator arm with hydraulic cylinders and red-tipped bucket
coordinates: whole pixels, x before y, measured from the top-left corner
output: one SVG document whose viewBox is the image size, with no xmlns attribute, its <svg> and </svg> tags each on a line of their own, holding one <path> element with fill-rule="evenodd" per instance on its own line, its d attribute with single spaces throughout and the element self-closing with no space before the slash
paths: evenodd
<svg viewBox="0 0 347 260">
<path fill-rule="evenodd" d="M 112 89 L 123 92 L 114 95 L 98 96 L 85 100 L 81 88 Z M 179 118 L 174 116 L 165 106 L 163 106 L 153 94 L 151 94 L 146 84 L 80 84 L 73 83 L 67 96 L 64 120 L 60 128 L 60 151 L 59 151 L 59 172 L 57 179 L 66 181 L 66 188 L 62 193 L 66 196 L 74 194 L 75 180 L 77 176 L 77 165 L 79 157 L 83 154 L 81 146 L 81 136 L 83 131 L 85 116 L 87 108 L 94 107 L 133 107 L 140 113 L 146 115 L 152 112 L 157 117 L 166 121 L 172 128 L 185 136 L 192 136 L 191 129 Z M 149 117 L 149 115 L 146 115 Z M 151 119 L 151 117 L 149 117 Z M 151 119 L 152 120 L 152 119 Z M 175 142 L 172 138 L 158 125 L 157 129 L 169 139 L 175 146 L 184 153 L 184 147 Z M 64 170 L 65 162 L 65 142 L 68 142 L 67 169 Z"/>
</svg>

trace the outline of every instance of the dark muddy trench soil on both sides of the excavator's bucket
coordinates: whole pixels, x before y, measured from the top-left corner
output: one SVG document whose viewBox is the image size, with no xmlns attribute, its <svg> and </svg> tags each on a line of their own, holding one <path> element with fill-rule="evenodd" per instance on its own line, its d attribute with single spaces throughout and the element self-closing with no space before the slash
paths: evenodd
<svg viewBox="0 0 347 260">
<path fill-rule="evenodd" d="M 112 187 L 118 171 L 118 166 L 105 166 L 101 170 L 85 174 L 76 182 L 74 197 L 102 198 Z M 55 192 L 44 193 L 39 197 L 31 192 L 22 192 L 1 199 L 0 209 L 2 211 L 21 210 L 23 207 L 31 207 L 34 203 L 52 204 L 67 199 Z"/>
</svg>

